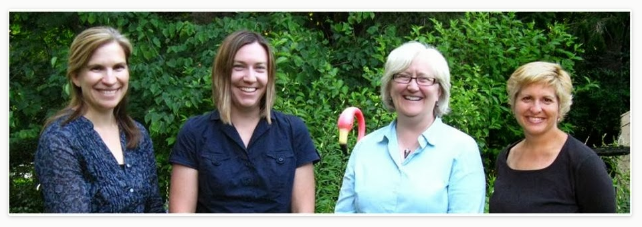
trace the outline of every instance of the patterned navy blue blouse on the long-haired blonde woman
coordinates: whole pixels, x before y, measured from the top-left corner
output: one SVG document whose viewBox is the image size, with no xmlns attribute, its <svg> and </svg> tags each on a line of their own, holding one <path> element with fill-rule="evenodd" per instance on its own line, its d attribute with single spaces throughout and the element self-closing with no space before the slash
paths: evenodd
<svg viewBox="0 0 642 227">
<path fill-rule="evenodd" d="M 120 133 L 124 165 L 119 165 L 93 123 L 79 117 L 68 124 L 62 117 L 42 132 L 35 156 L 36 176 L 45 212 L 53 213 L 162 213 L 156 159 L 147 130 L 138 122 L 141 142 L 125 145 Z"/>
</svg>

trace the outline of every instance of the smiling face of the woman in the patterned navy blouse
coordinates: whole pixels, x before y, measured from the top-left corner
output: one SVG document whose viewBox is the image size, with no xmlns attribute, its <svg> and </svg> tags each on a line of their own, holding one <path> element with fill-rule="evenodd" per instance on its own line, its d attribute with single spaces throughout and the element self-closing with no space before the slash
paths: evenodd
<svg viewBox="0 0 642 227">
<path fill-rule="evenodd" d="M 99 47 L 72 81 L 82 90 L 88 112 L 113 112 L 127 93 L 129 84 L 123 48 L 116 42 Z"/>
</svg>

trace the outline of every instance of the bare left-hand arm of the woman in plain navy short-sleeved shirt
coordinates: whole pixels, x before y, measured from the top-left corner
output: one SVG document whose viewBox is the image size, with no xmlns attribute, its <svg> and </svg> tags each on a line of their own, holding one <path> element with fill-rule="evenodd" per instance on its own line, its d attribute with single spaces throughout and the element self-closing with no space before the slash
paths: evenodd
<svg viewBox="0 0 642 227">
<path fill-rule="evenodd" d="M 172 165 L 169 187 L 169 212 L 194 213 L 198 199 L 198 171 L 186 166 Z"/>
</svg>

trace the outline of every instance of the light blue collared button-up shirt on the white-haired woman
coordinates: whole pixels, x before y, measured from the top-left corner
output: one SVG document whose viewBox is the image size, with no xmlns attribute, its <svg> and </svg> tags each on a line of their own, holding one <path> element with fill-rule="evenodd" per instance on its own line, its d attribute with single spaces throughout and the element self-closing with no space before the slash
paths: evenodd
<svg viewBox="0 0 642 227">
<path fill-rule="evenodd" d="M 396 125 L 355 145 L 335 213 L 483 213 L 486 180 L 477 142 L 436 118 L 403 160 Z"/>
</svg>

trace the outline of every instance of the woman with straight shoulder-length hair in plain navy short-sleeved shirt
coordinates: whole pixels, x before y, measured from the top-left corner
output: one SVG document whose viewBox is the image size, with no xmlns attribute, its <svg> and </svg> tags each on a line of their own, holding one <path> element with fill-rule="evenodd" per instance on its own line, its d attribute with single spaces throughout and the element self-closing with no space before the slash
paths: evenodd
<svg viewBox="0 0 642 227">
<path fill-rule="evenodd" d="M 223 41 L 212 69 L 216 110 L 190 118 L 170 156 L 170 212 L 314 212 L 319 154 L 300 118 L 271 109 L 275 71 L 258 33 Z"/>
</svg>

